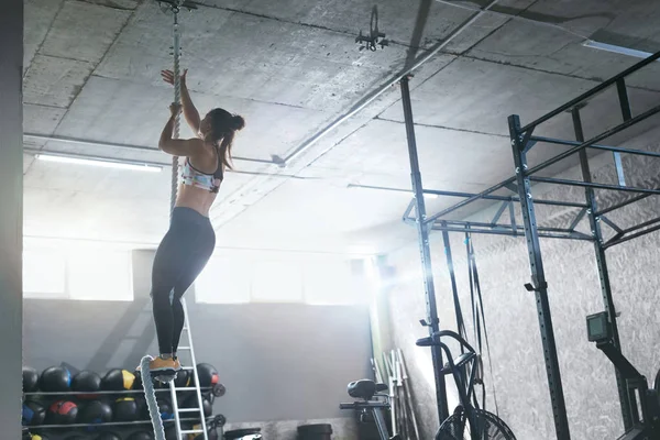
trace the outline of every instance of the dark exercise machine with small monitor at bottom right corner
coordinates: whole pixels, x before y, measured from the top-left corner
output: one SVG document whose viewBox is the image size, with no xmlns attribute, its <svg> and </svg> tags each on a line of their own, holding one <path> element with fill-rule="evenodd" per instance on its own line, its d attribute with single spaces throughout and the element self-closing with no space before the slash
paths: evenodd
<svg viewBox="0 0 660 440">
<path fill-rule="evenodd" d="M 632 420 L 632 427 L 617 440 L 660 439 L 660 371 L 656 375 L 653 388 L 649 389 L 647 378 L 614 345 L 612 323 L 606 312 L 587 316 L 586 329 L 588 340 L 596 343 L 596 348 L 605 353 L 626 380 L 630 397 L 630 407 L 627 411 Z M 641 417 L 639 409 L 641 409 Z"/>
</svg>

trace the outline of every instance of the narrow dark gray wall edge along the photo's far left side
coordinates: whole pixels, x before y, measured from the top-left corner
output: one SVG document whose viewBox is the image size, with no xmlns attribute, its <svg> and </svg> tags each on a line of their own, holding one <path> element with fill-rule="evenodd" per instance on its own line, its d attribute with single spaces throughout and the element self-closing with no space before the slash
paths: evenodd
<svg viewBox="0 0 660 440">
<path fill-rule="evenodd" d="M 21 252 L 23 237 L 23 2 L 0 14 L 0 439 L 21 436 Z"/>
</svg>

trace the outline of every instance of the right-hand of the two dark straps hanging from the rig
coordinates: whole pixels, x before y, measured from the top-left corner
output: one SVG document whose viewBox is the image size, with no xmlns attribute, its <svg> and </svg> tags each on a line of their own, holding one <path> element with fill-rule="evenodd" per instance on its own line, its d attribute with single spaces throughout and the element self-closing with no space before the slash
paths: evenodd
<svg viewBox="0 0 660 440">
<path fill-rule="evenodd" d="M 475 337 L 476 337 L 476 343 L 479 346 L 479 354 L 480 354 L 480 367 L 482 366 L 482 361 L 481 361 L 481 353 L 482 353 L 482 327 L 483 327 L 483 334 L 484 334 L 484 340 L 486 342 L 486 352 L 488 353 L 488 365 L 491 369 L 491 377 L 493 378 L 493 361 L 492 361 L 492 356 L 491 356 L 491 343 L 488 341 L 488 330 L 486 328 L 486 317 L 484 315 L 484 301 L 483 301 L 483 296 L 482 296 L 482 290 L 481 290 L 481 285 L 479 282 L 479 270 L 476 267 L 476 257 L 474 255 L 474 246 L 472 244 L 472 238 L 470 235 L 469 232 L 465 232 L 465 244 L 468 248 L 468 266 L 469 266 L 469 271 L 470 271 L 470 295 L 472 298 L 472 316 L 474 319 L 474 331 L 475 331 Z M 475 295 L 476 294 L 476 295 Z M 482 399 L 483 399 L 483 404 L 482 404 L 482 409 L 485 410 L 486 408 L 486 387 L 483 385 L 482 383 L 482 388 L 483 388 L 483 395 L 482 395 Z M 497 416 L 499 416 L 499 408 L 497 405 L 497 393 L 495 391 L 495 384 L 493 384 L 493 398 L 495 402 L 495 414 Z"/>
</svg>

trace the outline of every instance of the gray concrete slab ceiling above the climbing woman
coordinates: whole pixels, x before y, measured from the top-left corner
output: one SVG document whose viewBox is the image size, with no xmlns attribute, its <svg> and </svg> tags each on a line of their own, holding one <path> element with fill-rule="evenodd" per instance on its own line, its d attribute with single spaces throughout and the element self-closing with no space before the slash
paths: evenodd
<svg viewBox="0 0 660 440">
<path fill-rule="evenodd" d="M 243 158 L 235 161 L 240 173 L 228 176 L 211 212 L 218 244 L 384 252 L 413 239 L 400 221 L 409 196 L 349 188 L 410 186 L 398 87 L 324 129 L 432 50 L 471 16 L 470 9 L 486 3 L 204 0 L 198 10 L 182 13 L 182 63 L 190 69 L 200 112 L 220 106 L 248 122 L 234 145 Z M 376 10 L 389 46 L 359 51 L 355 36 L 369 32 Z M 476 193 L 510 176 L 509 114 L 529 122 L 638 62 L 584 47 L 585 38 L 660 50 L 660 3 L 653 0 L 503 0 L 493 11 L 415 72 L 426 187 Z M 26 136 L 25 147 L 169 162 L 144 148 L 156 147 L 173 99 L 158 75 L 172 65 L 170 24 L 170 14 L 153 0 L 26 0 L 25 132 L 103 144 Z M 628 86 L 635 112 L 657 105 L 660 64 Z M 615 102 L 608 92 L 590 103 L 587 135 L 620 122 L 608 106 Z M 318 133 L 324 135 L 287 167 L 271 163 Z M 571 139 L 568 116 L 538 133 Z M 185 128 L 183 135 L 191 133 Z M 542 146 L 531 160 L 559 151 Z M 571 165 L 565 161 L 551 172 Z M 26 154 L 24 172 L 26 235 L 148 245 L 167 227 L 169 168 L 142 174 Z M 455 199 L 429 202 L 432 211 Z"/>
</svg>

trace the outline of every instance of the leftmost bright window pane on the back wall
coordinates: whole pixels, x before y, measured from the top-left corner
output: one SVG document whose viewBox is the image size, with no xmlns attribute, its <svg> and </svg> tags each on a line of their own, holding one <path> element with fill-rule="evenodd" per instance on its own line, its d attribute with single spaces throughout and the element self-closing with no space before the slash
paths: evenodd
<svg viewBox="0 0 660 440">
<path fill-rule="evenodd" d="M 66 263 L 62 252 L 40 249 L 23 252 L 23 296 L 66 298 Z"/>
</svg>

